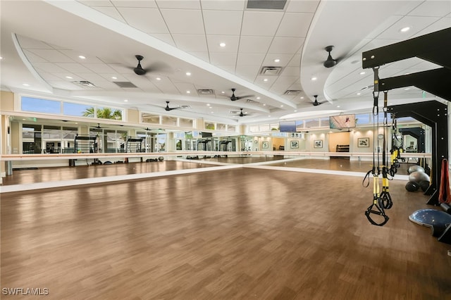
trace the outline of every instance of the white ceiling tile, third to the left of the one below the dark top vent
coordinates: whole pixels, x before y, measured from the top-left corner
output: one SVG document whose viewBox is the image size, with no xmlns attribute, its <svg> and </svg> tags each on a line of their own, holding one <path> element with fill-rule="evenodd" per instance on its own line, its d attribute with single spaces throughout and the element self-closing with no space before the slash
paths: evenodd
<svg viewBox="0 0 451 300">
<path fill-rule="evenodd" d="M 169 33 L 161 13 L 156 8 L 118 8 L 128 25 L 147 33 Z"/>
</svg>

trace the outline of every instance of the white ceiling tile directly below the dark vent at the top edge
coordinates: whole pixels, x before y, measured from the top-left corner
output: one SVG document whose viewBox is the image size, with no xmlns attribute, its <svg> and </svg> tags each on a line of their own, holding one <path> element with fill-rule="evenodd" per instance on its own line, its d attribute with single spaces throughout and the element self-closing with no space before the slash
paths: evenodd
<svg viewBox="0 0 451 300">
<path fill-rule="evenodd" d="M 273 37 L 282 17 L 279 12 L 245 11 L 241 35 Z"/>
</svg>

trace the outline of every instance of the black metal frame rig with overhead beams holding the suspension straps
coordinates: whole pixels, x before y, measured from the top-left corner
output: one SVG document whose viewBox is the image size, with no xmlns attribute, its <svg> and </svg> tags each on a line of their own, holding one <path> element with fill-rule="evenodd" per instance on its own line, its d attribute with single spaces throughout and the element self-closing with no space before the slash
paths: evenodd
<svg viewBox="0 0 451 300">
<path fill-rule="evenodd" d="M 374 91 L 388 91 L 400 87 L 415 86 L 426 92 L 451 101 L 451 27 L 403 42 L 390 44 L 362 53 L 362 68 L 373 68 Z M 418 57 L 443 68 L 426 70 L 385 79 L 378 78 L 378 68 L 385 63 Z M 375 97 L 376 98 L 376 97 Z M 434 189 L 428 204 L 438 205 L 441 160 L 448 158 L 447 106 L 438 101 L 389 106 L 396 118 L 412 117 L 432 127 L 432 185 Z M 426 191 L 428 192 L 428 191 Z"/>
</svg>

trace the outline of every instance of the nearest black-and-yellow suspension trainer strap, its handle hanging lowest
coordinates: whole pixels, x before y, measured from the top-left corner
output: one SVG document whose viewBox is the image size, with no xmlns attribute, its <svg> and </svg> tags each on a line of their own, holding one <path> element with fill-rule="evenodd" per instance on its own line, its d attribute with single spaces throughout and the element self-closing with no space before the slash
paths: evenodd
<svg viewBox="0 0 451 300">
<path fill-rule="evenodd" d="M 379 99 L 379 77 L 378 77 L 378 67 L 373 68 L 374 72 L 374 91 L 373 91 L 373 168 L 366 173 L 364 181 L 366 177 L 369 177 L 369 174 L 373 174 L 373 204 L 371 204 L 368 208 L 366 208 L 365 215 L 369 222 L 373 225 L 383 226 L 388 222 L 388 215 L 385 215 L 383 201 L 381 200 L 381 194 L 379 189 L 379 175 L 381 175 L 381 165 L 379 162 L 379 154 L 378 151 L 374 150 L 375 142 L 377 140 L 377 146 L 379 149 L 379 140 L 378 140 L 378 131 L 379 131 L 379 107 L 378 107 L 378 99 Z M 376 127 L 377 122 L 377 127 Z M 376 156 L 378 160 L 377 172 L 376 172 Z M 368 186 L 368 185 L 366 185 Z M 373 215 L 380 215 L 383 219 L 379 222 L 374 220 Z"/>
</svg>

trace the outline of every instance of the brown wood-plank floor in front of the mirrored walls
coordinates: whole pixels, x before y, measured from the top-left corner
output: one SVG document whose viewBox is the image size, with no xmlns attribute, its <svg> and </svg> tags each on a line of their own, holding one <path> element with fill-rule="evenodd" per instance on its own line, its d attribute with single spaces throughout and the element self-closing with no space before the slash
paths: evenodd
<svg viewBox="0 0 451 300">
<path fill-rule="evenodd" d="M 1 195 L 2 299 L 451 299 L 451 245 L 362 178 L 238 168 Z M 2 290 L 3 291 L 3 290 Z"/>
</svg>

